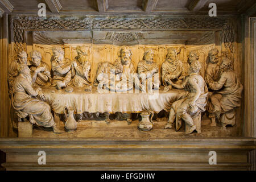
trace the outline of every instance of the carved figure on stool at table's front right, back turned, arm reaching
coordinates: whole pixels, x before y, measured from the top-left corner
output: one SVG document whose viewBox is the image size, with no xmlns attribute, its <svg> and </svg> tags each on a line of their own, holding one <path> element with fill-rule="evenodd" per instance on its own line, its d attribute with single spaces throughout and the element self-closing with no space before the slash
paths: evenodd
<svg viewBox="0 0 256 182">
<path fill-rule="evenodd" d="M 196 130 L 193 118 L 205 111 L 208 99 L 208 88 L 204 78 L 199 75 L 200 69 L 201 64 L 199 61 L 192 62 L 189 68 L 190 74 L 185 77 L 181 84 L 171 82 L 172 86 L 177 89 L 185 89 L 188 94 L 183 99 L 174 102 L 165 128 L 171 128 L 176 118 L 176 131 L 181 127 L 181 119 L 189 126 L 188 130 L 185 131 L 186 134 Z"/>
</svg>

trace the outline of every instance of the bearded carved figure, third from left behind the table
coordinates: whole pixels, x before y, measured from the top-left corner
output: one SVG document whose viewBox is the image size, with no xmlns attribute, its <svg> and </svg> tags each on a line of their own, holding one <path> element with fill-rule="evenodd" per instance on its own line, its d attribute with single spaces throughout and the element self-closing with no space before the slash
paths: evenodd
<svg viewBox="0 0 256 182">
<path fill-rule="evenodd" d="M 57 89 L 65 88 L 71 81 L 71 64 L 64 60 L 64 50 L 59 47 L 52 48 L 53 56 L 51 58 L 52 65 L 52 85 Z"/>
</svg>

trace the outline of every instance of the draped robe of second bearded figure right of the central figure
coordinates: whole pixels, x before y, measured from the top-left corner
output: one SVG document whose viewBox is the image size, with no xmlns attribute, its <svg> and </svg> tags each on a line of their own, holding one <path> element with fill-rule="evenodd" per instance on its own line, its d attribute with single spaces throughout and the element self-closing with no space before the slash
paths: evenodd
<svg viewBox="0 0 256 182">
<path fill-rule="evenodd" d="M 170 63 L 168 60 L 162 64 L 162 82 L 164 86 L 168 86 L 168 81 L 177 82 L 183 73 L 183 64 L 180 60 Z"/>
</svg>

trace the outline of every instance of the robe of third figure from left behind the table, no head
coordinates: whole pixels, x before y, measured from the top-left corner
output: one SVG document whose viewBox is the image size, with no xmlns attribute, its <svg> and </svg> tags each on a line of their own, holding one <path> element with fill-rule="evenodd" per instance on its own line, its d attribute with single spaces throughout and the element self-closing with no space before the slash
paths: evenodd
<svg viewBox="0 0 256 182">
<path fill-rule="evenodd" d="M 69 64 L 59 63 L 54 57 L 52 57 L 51 65 L 53 71 L 51 86 L 56 86 L 59 81 L 63 81 L 65 86 L 67 86 L 71 81 L 71 66 Z"/>
</svg>

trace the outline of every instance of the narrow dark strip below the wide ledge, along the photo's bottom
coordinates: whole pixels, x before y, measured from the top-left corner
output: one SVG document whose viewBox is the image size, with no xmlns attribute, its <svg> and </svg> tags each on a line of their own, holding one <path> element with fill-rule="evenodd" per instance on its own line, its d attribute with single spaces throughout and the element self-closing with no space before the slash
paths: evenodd
<svg viewBox="0 0 256 182">
<path fill-rule="evenodd" d="M 161 171 L 170 171 L 170 170 L 247 170 L 250 168 L 250 164 L 246 163 L 222 163 L 217 165 L 209 165 L 205 163 L 48 163 L 43 166 L 39 166 L 35 163 L 5 163 L 3 164 L 5 168 L 10 170 L 161 170 Z"/>
</svg>

